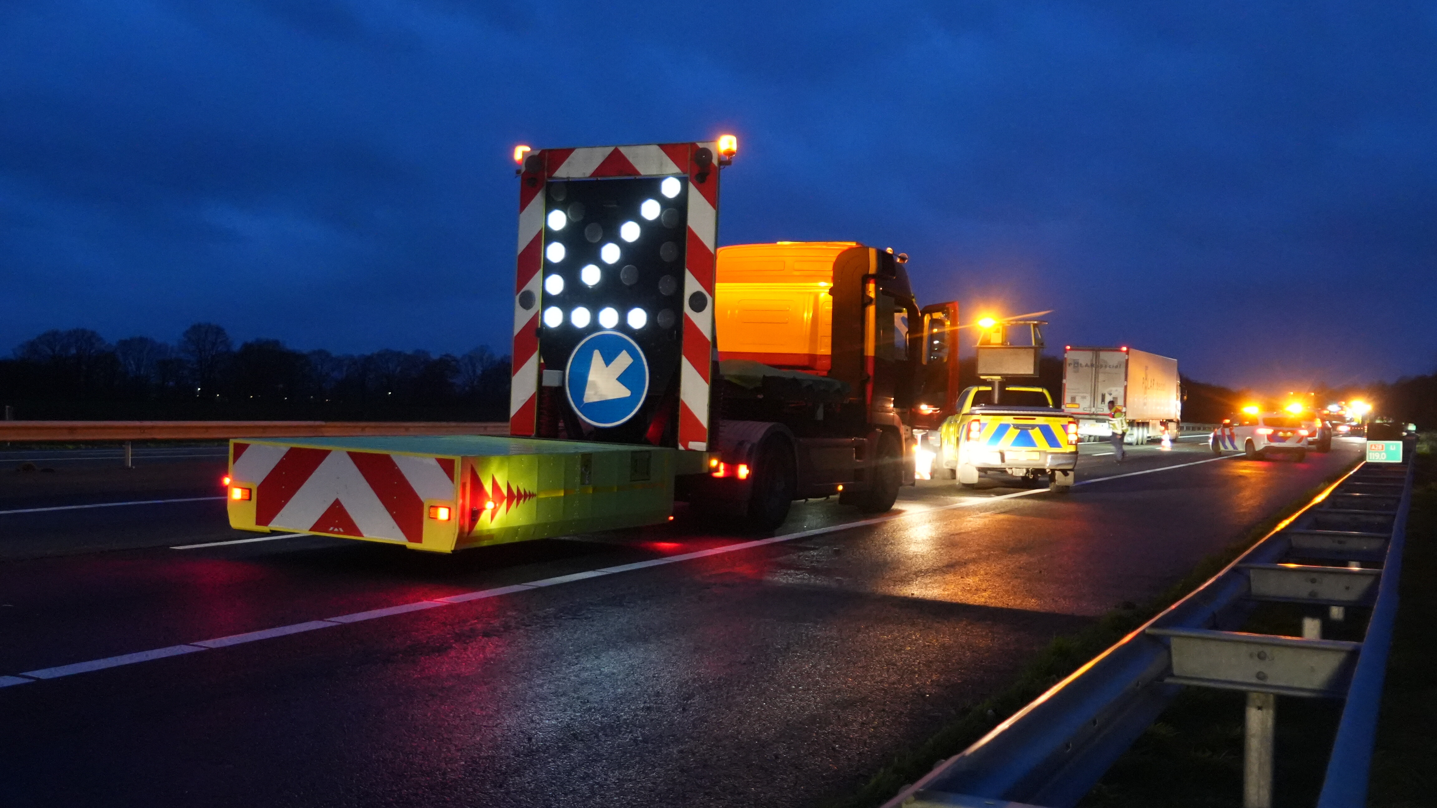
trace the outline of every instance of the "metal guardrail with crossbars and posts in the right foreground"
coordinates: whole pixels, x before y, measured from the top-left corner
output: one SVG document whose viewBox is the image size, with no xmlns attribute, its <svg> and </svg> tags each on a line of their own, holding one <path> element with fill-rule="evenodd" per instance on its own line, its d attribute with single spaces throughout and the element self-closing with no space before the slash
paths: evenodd
<svg viewBox="0 0 1437 808">
<path fill-rule="evenodd" d="M 1410 449 L 1410 446 L 1408 446 Z M 1183 686 L 1247 693 L 1246 807 L 1270 805 L 1277 694 L 1346 697 L 1321 808 L 1367 795 L 1382 673 L 1397 612 L 1413 464 L 1359 464 L 1237 561 L 1124 637 L 884 808 L 1076 805 Z M 1346 562 L 1346 566 L 1295 564 Z M 1381 562 L 1381 569 L 1361 564 Z M 1362 643 L 1243 634 L 1259 601 L 1375 604 Z"/>
</svg>

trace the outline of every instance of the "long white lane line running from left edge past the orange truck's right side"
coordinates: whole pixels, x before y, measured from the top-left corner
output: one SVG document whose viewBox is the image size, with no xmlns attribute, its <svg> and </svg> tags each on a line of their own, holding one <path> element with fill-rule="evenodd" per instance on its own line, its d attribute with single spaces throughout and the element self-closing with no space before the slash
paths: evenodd
<svg viewBox="0 0 1437 808">
<path fill-rule="evenodd" d="M 1158 467 L 1158 469 L 1148 469 L 1145 472 L 1131 472 L 1131 473 L 1127 473 L 1127 474 L 1114 474 L 1111 477 L 1098 477 L 1096 480 L 1083 480 L 1081 483 L 1073 483 L 1073 485 L 1082 486 L 1082 485 L 1088 485 L 1088 483 L 1101 483 L 1104 480 L 1117 480 L 1119 477 L 1134 477 L 1134 476 L 1138 476 L 1138 474 L 1151 474 L 1154 472 L 1167 472 L 1167 470 L 1171 470 L 1171 469 L 1184 469 L 1187 466 L 1198 466 L 1201 463 L 1213 463 L 1216 460 L 1230 460 L 1233 457 L 1240 457 L 1240 456 L 1239 454 L 1230 454 L 1230 456 L 1223 456 L 1223 457 L 1210 457 L 1207 460 L 1197 460 L 1194 463 L 1180 463 L 1180 464 L 1175 464 L 1175 466 L 1163 466 L 1163 467 Z M 537 588 L 542 588 L 542 587 L 555 587 L 555 585 L 559 585 L 559 584 L 570 584 L 573 581 L 586 581 L 589 578 L 598 578 L 598 577 L 602 577 L 602 575 L 612 575 L 615 572 L 628 572 L 628 571 L 632 571 L 632 569 L 647 569 L 650 566 L 662 566 L 665 564 L 678 564 L 681 561 L 693 561 L 696 558 L 708 558 L 708 556 L 713 556 L 713 555 L 724 555 L 724 554 L 730 554 L 730 552 L 741 552 L 741 551 L 746 551 L 746 549 L 759 548 L 759 546 L 764 546 L 764 545 L 773 545 L 773 543 L 779 543 L 779 542 L 792 542 L 793 539 L 806 539 L 809 536 L 821 536 L 823 533 L 836 533 L 838 531 L 848 531 L 851 528 L 864 528 L 864 526 L 868 526 L 868 525 L 881 525 L 884 522 L 892 522 L 894 519 L 902 519 L 905 516 L 914 516 L 914 515 L 918 515 L 918 513 L 933 513 L 933 512 L 938 512 L 938 510 L 953 510 L 953 509 L 957 509 L 957 508 L 971 508 L 974 505 L 983 505 L 983 503 L 987 503 L 987 502 L 997 502 L 997 500 L 1003 500 L 1003 499 L 1015 499 L 1015 497 L 1019 497 L 1019 496 L 1030 496 L 1030 495 L 1035 495 L 1035 493 L 1048 493 L 1048 489 L 1029 489 L 1029 490 L 1020 490 L 1020 492 L 1004 493 L 1004 495 L 997 495 L 997 496 L 970 496 L 970 497 L 963 497 L 958 502 L 953 502 L 953 503 L 948 503 L 948 505 L 940 505 L 940 506 L 934 506 L 934 508 L 923 508 L 921 510 L 920 509 L 915 509 L 915 510 L 902 510 L 902 512 L 892 513 L 892 515 L 888 515 L 888 516 L 875 516 L 872 519 L 859 519 L 858 522 L 845 522 L 842 525 L 828 525 L 825 528 L 813 528 L 810 531 L 799 531 L 796 533 L 785 533 L 782 536 L 773 536 L 773 538 L 767 538 L 767 539 L 754 539 L 754 541 L 749 541 L 749 542 L 736 542 L 736 543 L 731 543 L 731 545 L 723 545 L 723 546 L 701 549 L 701 551 L 696 551 L 696 552 L 685 552 L 685 554 L 670 555 L 670 556 L 664 556 L 664 558 L 651 558 L 648 561 L 637 561 L 637 562 L 632 562 L 632 564 L 621 564 L 621 565 L 616 565 L 616 566 L 602 566 L 602 568 L 598 568 L 598 569 L 586 569 L 586 571 L 582 571 L 582 572 L 570 572 L 568 575 L 556 575 L 553 578 L 540 578 L 539 581 L 530 581 L 527 584 L 510 584 L 509 587 L 496 587 L 493 589 L 480 589 L 477 592 L 461 592 L 461 594 L 448 595 L 448 597 L 444 597 L 444 598 L 435 598 L 435 600 L 427 600 L 427 601 L 415 601 L 415 602 L 410 602 L 410 604 L 399 604 L 399 605 L 394 605 L 394 607 L 376 608 L 376 610 L 369 610 L 369 611 L 358 611 L 358 612 L 354 612 L 354 614 L 345 614 L 345 615 L 339 615 L 339 617 L 329 617 L 329 618 L 325 618 L 325 620 L 312 620 L 309 623 L 295 623 L 292 625 L 279 625 L 279 627 L 274 627 L 274 628 L 264 628 L 262 631 L 249 631 L 249 633 L 244 633 L 244 634 L 231 634 L 228 637 L 217 637 L 214 640 L 200 640 L 198 643 L 190 643 L 190 644 L 184 644 L 184 646 L 171 646 L 168 648 L 157 648 L 154 651 L 141 651 L 138 654 L 125 654 L 125 656 L 119 656 L 119 657 L 106 657 L 103 660 L 93 660 L 93 661 L 88 661 L 88 663 L 75 663 L 75 664 L 68 664 L 68 666 L 60 666 L 60 667 L 49 667 L 49 669 L 42 669 L 42 670 L 32 670 L 29 673 L 22 673 L 20 677 L 0 676 L 0 687 L 4 687 L 7 684 L 23 684 L 26 681 L 32 681 L 32 680 L 36 680 L 36 679 L 56 679 L 56 677 L 69 676 L 69 674 L 73 674 L 73 673 L 86 673 L 86 671 L 91 671 L 91 670 L 101 670 L 101 669 L 116 667 L 116 666 L 122 666 L 122 664 L 141 663 L 141 661 L 148 661 L 148 660 L 172 657 L 172 656 L 178 656 L 178 654 L 190 654 L 190 653 L 194 653 L 194 651 L 203 651 L 205 648 L 226 648 L 226 647 L 230 647 L 230 646 L 239 646 L 241 643 L 254 643 L 257 640 L 269 640 L 269 638 L 273 638 L 273 637 L 287 637 L 290 634 L 299 634 L 299 633 L 303 633 L 303 631 L 313 631 L 315 628 L 328 628 L 331 625 L 345 625 L 345 624 L 349 624 L 349 623 L 359 623 L 359 621 L 364 621 L 364 620 L 374 620 L 374 618 L 378 618 L 378 617 L 389 617 L 389 615 L 395 615 L 395 614 L 408 614 L 411 611 L 422 611 L 422 610 L 430 610 L 430 608 L 435 608 L 435 607 L 441 607 L 441 605 L 463 604 L 463 602 L 477 601 L 477 600 L 483 600 L 483 598 L 494 598 L 494 597 L 500 597 L 500 595 L 510 595 L 510 594 L 514 594 L 514 592 L 523 592 L 523 591 L 527 591 L 527 589 L 537 589 Z M 295 535 L 308 535 L 308 533 L 295 533 Z M 269 539 L 269 538 L 287 538 L 287 536 L 264 536 L 264 538 L 260 538 L 260 539 L 240 539 L 240 542 L 264 541 L 264 539 Z M 217 542 L 217 543 L 223 543 L 223 542 Z M 213 545 L 193 545 L 193 546 L 213 546 Z M 24 679 L 24 677 L 27 677 L 27 679 Z"/>
</svg>

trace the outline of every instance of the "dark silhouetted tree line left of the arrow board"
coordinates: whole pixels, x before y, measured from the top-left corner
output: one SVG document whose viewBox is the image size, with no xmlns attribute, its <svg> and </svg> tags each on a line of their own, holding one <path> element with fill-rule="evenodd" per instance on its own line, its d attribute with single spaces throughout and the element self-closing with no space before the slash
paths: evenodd
<svg viewBox="0 0 1437 808">
<path fill-rule="evenodd" d="M 509 357 L 489 346 L 460 357 L 336 355 L 279 339 L 236 348 L 210 322 L 174 345 L 149 336 L 109 344 L 76 328 L 46 331 L 0 359 L 0 404 L 27 420 L 506 420 Z"/>
</svg>

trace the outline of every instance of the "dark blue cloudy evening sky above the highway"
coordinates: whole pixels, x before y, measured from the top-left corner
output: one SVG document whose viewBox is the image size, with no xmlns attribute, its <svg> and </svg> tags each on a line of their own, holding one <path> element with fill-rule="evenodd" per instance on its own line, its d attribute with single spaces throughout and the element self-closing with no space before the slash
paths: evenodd
<svg viewBox="0 0 1437 808">
<path fill-rule="evenodd" d="M 6 0 L 0 349 L 507 352 L 512 147 L 720 132 L 720 243 L 1217 382 L 1437 367 L 1437 4 L 1315 1 Z"/>
</svg>

